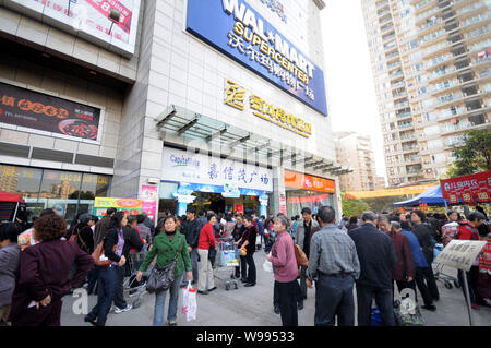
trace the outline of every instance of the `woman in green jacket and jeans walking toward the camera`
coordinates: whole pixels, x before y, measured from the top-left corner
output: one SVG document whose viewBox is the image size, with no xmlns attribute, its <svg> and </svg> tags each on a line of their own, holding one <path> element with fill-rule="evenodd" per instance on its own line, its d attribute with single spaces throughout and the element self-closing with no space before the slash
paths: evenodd
<svg viewBox="0 0 491 348">
<path fill-rule="evenodd" d="M 188 251 L 188 243 L 185 237 L 177 231 L 177 219 L 173 216 L 167 216 L 164 220 L 164 233 L 155 237 L 152 250 L 146 254 L 145 261 L 136 274 L 136 281 L 142 280 L 143 272 L 146 272 L 151 262 L 157 256 L 156 266 L 166 267 L 176 260 L 176 267 L 173 271 L 173 280 L 168 290 L 155 293 L 154 308 L 154 326 L 164 325 L 165 302 L 167 292 L 170 293 L 169 305 L 167 310 L 167 321 L 169 326 L 177 325 L 177 308 L 179 301 L 179 289 L 182 283 L 183 273 L 188 281 L 192 279 L 191 259 Z M 177 259 L 176 259 L 177 256 Z"/>
</svg>

